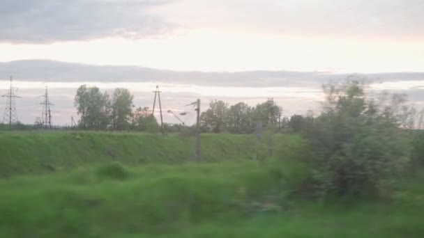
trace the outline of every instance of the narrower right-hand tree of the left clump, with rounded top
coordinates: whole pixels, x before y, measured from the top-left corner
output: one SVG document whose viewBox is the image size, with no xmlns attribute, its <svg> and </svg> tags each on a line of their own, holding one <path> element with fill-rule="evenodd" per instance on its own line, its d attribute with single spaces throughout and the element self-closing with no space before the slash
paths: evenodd
<svg viewBox="0 0 424 238">
<path fill-rule="evenodd" d="M 126 88 L 115 88 L 110 101 L 110 121 L 116 130 L 128 129 L 134 96 Z"/>
</svg>

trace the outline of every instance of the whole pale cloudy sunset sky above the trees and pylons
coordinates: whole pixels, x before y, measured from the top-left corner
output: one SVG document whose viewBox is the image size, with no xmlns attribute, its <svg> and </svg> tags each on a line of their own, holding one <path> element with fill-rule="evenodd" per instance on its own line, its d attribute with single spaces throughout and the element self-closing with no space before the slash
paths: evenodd
<svg viewBox="0 0 424 238">
<path fill-rule="evenodd" d="M 317 109 L 328 79 L 363 73 L 423 104 L 422 26 L 421 0 L 2 0 L 0 93 L 13 74 L 32 123 L 49 86 L 62 125 L 81 84 L 128 87 L 137 106 L 160 84 L 176 111 L 274 97 L 289 115 Z"/>
</svg>

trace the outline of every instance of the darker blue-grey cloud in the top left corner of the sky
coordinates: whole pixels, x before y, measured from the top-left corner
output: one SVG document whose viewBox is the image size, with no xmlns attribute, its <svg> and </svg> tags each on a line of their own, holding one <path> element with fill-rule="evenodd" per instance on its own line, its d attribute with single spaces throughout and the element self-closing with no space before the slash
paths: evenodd
<svg viewBox="0 0 424 238">
<path fill-rule="evenodd" d="M 165 0 L 3 0 L 0 42 L 45 43 L 120 35 L 142 38 L 171 26 L 149 14 Z"/>
</svg>

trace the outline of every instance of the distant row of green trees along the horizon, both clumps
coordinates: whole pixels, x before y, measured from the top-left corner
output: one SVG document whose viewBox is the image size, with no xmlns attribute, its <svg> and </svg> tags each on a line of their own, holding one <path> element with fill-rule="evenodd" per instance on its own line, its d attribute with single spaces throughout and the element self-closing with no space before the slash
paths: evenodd
<svg viewBox="0 0 424 238">
<path fill-rule="evenodd" d="M 74 100 L 80 117 L 79 129 L 159 132 L 160 126 L 149 107 L 135 108 L 133 99 L 126 88 L 102 92 L 96 86 L 79 86 Z M 203 133 L 250 134 L 255 131 L 258 122 L 264 127 L 287 123 L 287 119 L 281 119 L 281 113 L 282 107 L 271 100 L 256 106 L 245 102 L 229 105 L 213 100 L 201 114 L 201 129 Z M 190 126 L 165 123 L 168 132 L 180 132 L 183 127 L 190 129 Z"/>
</svg>

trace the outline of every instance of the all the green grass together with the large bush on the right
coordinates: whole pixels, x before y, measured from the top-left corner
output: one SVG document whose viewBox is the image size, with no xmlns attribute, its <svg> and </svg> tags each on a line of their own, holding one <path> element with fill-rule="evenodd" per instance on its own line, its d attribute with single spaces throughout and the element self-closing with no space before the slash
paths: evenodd
<svg viewBox="0 0 424 238">
<path fill-rule="evenodd" d="M 204 135 L 197 164 L 184 134 L 0 134 L 0 236 L 422 237 L 414 108 L 324 90 L 297 134 Z"/>
</svg>

